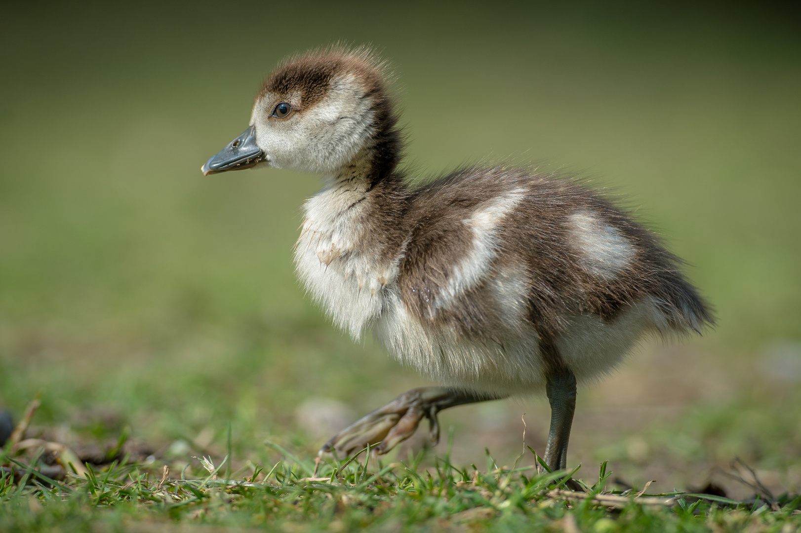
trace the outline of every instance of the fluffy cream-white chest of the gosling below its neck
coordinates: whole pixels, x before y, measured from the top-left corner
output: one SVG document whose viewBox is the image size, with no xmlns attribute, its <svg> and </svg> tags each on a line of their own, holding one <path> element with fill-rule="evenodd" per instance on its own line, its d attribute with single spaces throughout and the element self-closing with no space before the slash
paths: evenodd
<svg viewBox="0 0 801 533">
<path fill-rule="evenodd" d="M 384 310 L 396 261 L 380 260 L 358 193 L 323 190 L 304 205 L 295 247 L 298 277 L 334 323 L 360 337 Z"/>
</svg>

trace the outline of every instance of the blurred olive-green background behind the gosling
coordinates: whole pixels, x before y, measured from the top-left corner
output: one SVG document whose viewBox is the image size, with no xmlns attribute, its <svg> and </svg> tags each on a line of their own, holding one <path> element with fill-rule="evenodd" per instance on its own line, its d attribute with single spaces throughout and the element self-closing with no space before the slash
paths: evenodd
<svg viewBox="0 0 801 533">
<path fill-rule="evenodd" d="M 175 461 L 175 443 L 224 455 L 231 423 L 235 461 L 267 462 L 266 437 L 310 455 L 428 383 L 335 331 L 298 287 L 298 206 L 318 178 L 199 171 L 280 58 L 372 43 L 417 174 L 512 160 L 611 186 L 717 308 L 715 331 L 646 343 L 580 391 L 570 463 L 590 475 L 611 459 L 669 490 L 741 456 L 801 488 L 797 14 L 137 2 L 4 5 L 2 19 L 0 401 L 17 415 L 40 391 L 35 421 L 65 439 L 129 424 Z M 484 447 L 512 462 L 523 413 L 541 449 L 544 399 L 443 414 L 457 463 L 483 464 Z"/>
</svg>

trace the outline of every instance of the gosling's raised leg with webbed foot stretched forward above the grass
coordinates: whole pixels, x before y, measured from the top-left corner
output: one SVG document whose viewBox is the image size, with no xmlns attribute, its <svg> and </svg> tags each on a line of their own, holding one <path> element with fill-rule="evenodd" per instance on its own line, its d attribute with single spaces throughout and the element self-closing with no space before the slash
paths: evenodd
<svg viewBox="0 0 801 533">
<path fill-rule="evenodd" d="M 429 419 L 429 438 L 436 444 L 440 439 L 440 426 L 437 422 L 439 411 L 465 403 L 493 399 L 501 397 L 450 387 L 412 389 L 334 435 L 320 448 L 320 454 L 330 451 L 347 456 L 368 444 L 376 444 L 373 448 L 376 453 L 385 454 L 414 435 L 417 424 L 423 418 Z"/>
</svg>

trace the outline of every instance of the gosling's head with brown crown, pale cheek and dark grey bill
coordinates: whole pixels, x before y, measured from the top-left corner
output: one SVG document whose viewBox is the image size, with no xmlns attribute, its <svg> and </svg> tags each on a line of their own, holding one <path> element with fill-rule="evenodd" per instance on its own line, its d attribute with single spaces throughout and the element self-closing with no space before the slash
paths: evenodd
<svg viewBox="0 0 801 533">
<path fill-rule="evenodd" d="M 256 94 L 248 129 L 210 158 L 203 174 L 267 165 L 335 175 L 388 156 L 393 167 L 400 141 L 382 70 L 366 49 L 289 59 Z"/>
</svg>

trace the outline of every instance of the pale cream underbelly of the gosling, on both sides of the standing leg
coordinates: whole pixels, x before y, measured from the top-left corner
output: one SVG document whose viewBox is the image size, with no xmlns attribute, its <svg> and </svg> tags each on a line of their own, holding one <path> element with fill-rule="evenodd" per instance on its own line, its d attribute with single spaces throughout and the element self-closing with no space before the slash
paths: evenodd
<svg viewBox="0 0 801 533">
<path fill-rule="evenodd" d="M 388 294 L 374 325 L 376 338 L 403 363 L 442 383 L 474 391 L 526 394 L 545 387 L 545 367 L 533 329 L 508 332 L 501 344 L 474 342 L 450 331 L 431 331 L 409 315 L 400 298 Z M 642 336 L 661 322 L 650 302 L 624 311 L 612 323 L 579 315 L 557 340 L 562 359 L 580 382 L 609 373 Z"/>
</svg>

